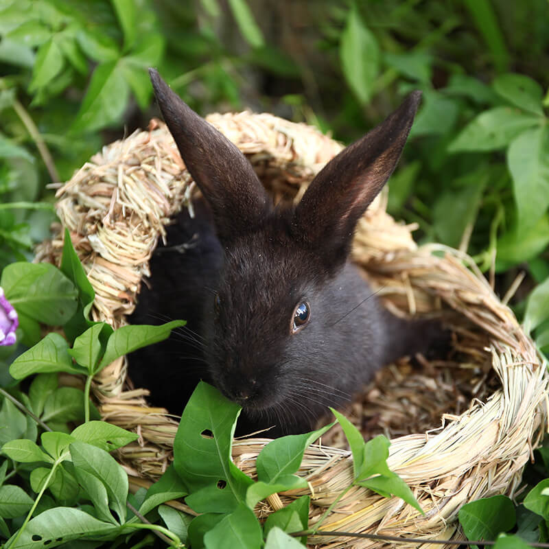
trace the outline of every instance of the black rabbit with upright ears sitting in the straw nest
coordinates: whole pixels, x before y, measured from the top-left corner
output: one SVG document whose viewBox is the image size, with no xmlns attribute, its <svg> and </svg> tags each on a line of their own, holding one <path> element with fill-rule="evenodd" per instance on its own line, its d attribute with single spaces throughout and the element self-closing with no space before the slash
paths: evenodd
<svg viewBox="0 0 549 549">
<path fill-rule="evenodd" d="M 153 257 L 132 318 L 188 320 L 130 357 L 130 377 L 156 404 L 180 414 L 202 378 L 244 408 L 241 432 L 305 432 L 379 367 L 428 349 L 438 327 L 390 314 L 349 262 L 355 225 L 393 172 L 421 93 L 330 161 L 296 207 L 274 207 L 235 145 L 150 75 L 205 199 L 170 227 L 179 247 Z"/>
</svg>

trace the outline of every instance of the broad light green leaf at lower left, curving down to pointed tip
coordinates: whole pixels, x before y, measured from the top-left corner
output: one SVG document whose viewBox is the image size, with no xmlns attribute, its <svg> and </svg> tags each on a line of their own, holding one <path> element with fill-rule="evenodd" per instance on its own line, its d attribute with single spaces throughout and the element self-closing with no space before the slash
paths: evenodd
<svg viewBox="0 0 549 549">
<path fill-rule="evenodd" d="M 91 444 L 75 442 L 70 446 L 73 464 L 77 469 L 92 474 L 107 490 L 109 506 L 117 513 L 119 522 L 126 520 L 128 475 L 113 456 Z"/>
</svg>

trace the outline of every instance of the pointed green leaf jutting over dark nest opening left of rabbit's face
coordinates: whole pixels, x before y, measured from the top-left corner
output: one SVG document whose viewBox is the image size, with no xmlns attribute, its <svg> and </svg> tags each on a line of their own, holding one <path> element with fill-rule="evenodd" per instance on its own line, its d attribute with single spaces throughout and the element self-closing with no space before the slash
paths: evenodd
<svg viewBox="0 0 549 549">
<path fill-rule="evenodd" d="M 108 338 L 105 354 L 96 372 L 101 371 L 120 356 L 165 340 L 170 336 L 172 329 L 180 326 L 185 326 L 184 320 L 172 320 L 160 326 L 122 326 Z"/>
</svg>

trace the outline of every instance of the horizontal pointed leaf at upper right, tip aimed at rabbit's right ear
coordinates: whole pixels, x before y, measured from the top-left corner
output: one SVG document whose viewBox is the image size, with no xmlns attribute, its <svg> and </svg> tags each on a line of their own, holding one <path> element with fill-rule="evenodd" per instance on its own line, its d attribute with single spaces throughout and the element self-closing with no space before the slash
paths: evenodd
<svg viewBox="0 0 549 549">
<path fill-rule="evenodd" d="M 524 130 L 541 119 L 511 107 L 485 110 L 473 119 L 448 145 L 448 152 L 498 150 L 506 147 Z"/>
</svg>

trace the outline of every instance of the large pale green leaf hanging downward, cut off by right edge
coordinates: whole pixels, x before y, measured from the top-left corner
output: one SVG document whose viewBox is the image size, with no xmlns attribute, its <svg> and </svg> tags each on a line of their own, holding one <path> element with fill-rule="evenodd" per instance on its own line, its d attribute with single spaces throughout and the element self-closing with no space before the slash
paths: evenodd
<svg viewBox="0 0 549 549">
<path fill-rule="evenodd" d="M 520 134 L 509 146 L 507 164 L 513 176 L 518 224 L 524 230 L 549 206 L 549 126 Z"/>
</svg>

